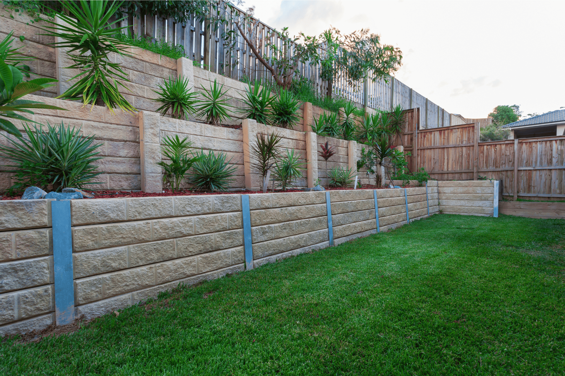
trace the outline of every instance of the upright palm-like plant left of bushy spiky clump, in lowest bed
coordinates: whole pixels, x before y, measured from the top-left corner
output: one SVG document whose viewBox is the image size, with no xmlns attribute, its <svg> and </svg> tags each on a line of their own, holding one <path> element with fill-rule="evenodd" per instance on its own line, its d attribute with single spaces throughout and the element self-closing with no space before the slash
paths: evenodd
<svg viewBox="0 0 565 376">
<path fill-rule="evenodd" d="M 181 140 L 179 135 L 175 135 L 174 138 L 166 136 L 163 144 L 165 145 L 162 148 L 163 155 L 170 160 L 170 162 L 157 163 L 163 168 L 163 188 L 172 189 L 173 192 L 179 191 L 186 171 L 204 157 L 194 156 L 189 151 L 192 143 L 186 137 Z"/>
</svg>

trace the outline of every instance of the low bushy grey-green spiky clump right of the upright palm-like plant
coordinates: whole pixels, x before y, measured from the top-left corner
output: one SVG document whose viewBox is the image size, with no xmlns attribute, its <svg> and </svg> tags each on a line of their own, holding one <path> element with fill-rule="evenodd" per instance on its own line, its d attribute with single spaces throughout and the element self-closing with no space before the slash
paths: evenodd
<svg viewBox="0 0 565 376">
<path fill-rule="evenodd" d="M 202 149 L 196 153 L 199 158 L 194 162 L 189 174 L 188 182 L 194 184 L 195 189 L 205 189 L 208 192 L 227 191 L 229 183 L 233 182 L 233 174 L 237 167 L 230 165 L 232 159 L 226 161 L 227 154 L 208 151 L 206 154 Z"/>
</svg>

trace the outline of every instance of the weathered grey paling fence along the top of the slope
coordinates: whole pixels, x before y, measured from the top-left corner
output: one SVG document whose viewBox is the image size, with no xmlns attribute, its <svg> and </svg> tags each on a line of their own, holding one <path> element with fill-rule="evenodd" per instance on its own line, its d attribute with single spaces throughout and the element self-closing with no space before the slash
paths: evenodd
<svg viewBox="0 0 565 376">
<path fill-rule="evenodd" d="M 227 7 L 224 2 L 218 4 L 220 15 L 227 19 L 237 19 L 244 14 L 237 7 Z M 218 30 L 214 30 L 206 22 L 195 19 L 194 15 L 185 23 L 176 23 L 172 18 L 166 19 L 159 15 L 136 15 L 124 20 L 122 26 L 131 26 L 129 30 L 137 37 L 181 45 L 190 59 L 211 72 L 240 80 L 272 80 L 271 73 L 250 51 L 233 22 L 222 24 Z M 260 21 L 256 28 L 258 39 L 263 41 L 273 31 L 273 28 Z M 224 40 L 223 36 L 226 35 L 230 37 Z M 281 45 L 282 41 L 277 39 L 275 43 Z M 264 47 L 264 43 L 262 46 L 263 52 L 269 56 L 271 52 Z M 328 82 L 320 78 L 320 64 L 300 63 L 298 74 L 309 79 L 319 95 L 325 95 Z M 337 79 L 332 83 L 332 94 L 379 110 L 390 110 L 398 104 L 403 108 L 420 108 L 419 124 L 425 129 L 451 125 L 449 112 L 398 79 L 388 77 L 368 81 L 368 85 L 364 86 L 362 82 L 349 85 L 346 79 Z M 367 103 L 364 103 L 364 87 L 368 90 Z"/>
</svg>

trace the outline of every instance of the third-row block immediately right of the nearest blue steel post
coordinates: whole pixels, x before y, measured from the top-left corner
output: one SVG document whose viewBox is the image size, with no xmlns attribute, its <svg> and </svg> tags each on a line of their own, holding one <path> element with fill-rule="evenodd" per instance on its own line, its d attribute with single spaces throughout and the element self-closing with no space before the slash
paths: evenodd
<svg viewBox="0 0 565 376">
<path fill-rule="evenodd" d="M 73 255 L 75 278 L 114 272 L 128 267 L 127 247 L 80 252 Z"/>
</svg>

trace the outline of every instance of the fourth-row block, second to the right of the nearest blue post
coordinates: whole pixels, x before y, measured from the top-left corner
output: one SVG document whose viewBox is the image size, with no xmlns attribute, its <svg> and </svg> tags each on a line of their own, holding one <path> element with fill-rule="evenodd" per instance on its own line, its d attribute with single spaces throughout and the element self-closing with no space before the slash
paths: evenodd
<svg viewBox="0 0 565 376">
<path fill-rule="evenodd" d="M 103 276 L 104 297 L 114 297 L 155 285 L 155 266 L 127 269 Z"/>
</svg>

